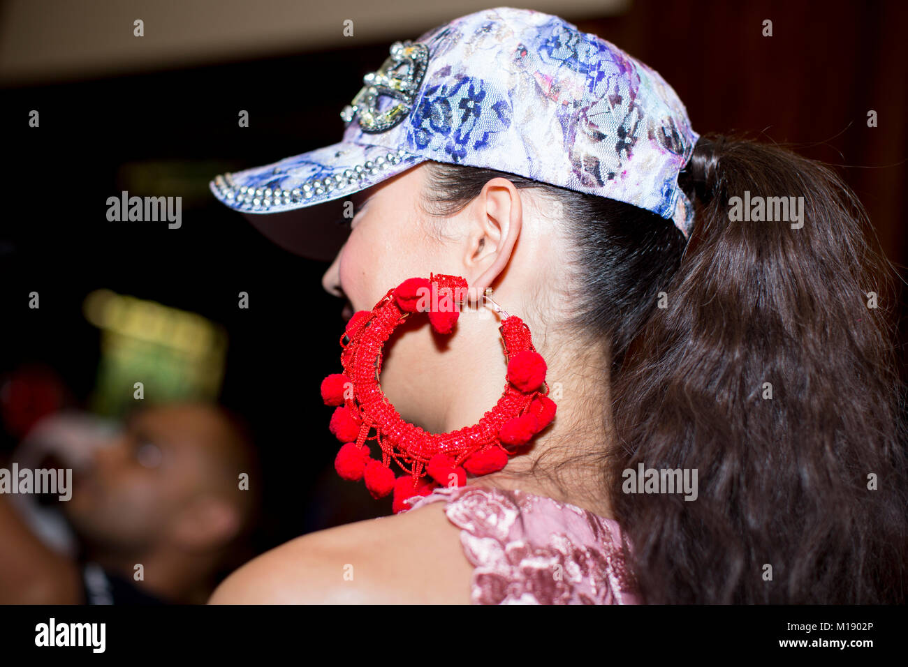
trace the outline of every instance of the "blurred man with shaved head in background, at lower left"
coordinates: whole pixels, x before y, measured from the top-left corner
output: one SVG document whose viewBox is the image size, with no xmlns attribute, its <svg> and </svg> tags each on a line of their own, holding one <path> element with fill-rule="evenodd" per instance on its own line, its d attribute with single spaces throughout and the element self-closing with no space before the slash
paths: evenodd
<svg viewBox="0 0 908 667">
<path fill-rule="evenodd" d="M 254 555 L 245 429 L 205 403 L 92 423 L 46 417 L 14 455 L 20 469 L 73 468 L 73 489 L 54 502 L 64 520 L 34 495 L 0 494 L 0 603 L 204 603 Z"/>
</svg>

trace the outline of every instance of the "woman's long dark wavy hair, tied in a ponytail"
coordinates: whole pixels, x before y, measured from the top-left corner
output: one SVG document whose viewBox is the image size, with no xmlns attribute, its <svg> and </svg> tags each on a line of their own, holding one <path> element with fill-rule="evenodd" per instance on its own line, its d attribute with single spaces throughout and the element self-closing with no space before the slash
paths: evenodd
<svg viewBox="0 0 908 667">
<path fill-rule="evenodd" d="M 647 603 L 905 602 L 893 270 L 827 165 L 705 135 L 678 180 L 696 210 L 686 242 L 623 202 L 428 164 L 432 216 L 461 211 L 498 176 L 562 206 L 585 295 L 566 325 L 610 355 L 603 418 L 617 434 L 595 460 L 566 463 L 601 471 Z M 729 199 L 745 191 L 804 197 L 803 228 L 730 221 Z M 640 463 L 696 469 L 696 501 L 622 493 L 622 471 Z"/>
</svg>

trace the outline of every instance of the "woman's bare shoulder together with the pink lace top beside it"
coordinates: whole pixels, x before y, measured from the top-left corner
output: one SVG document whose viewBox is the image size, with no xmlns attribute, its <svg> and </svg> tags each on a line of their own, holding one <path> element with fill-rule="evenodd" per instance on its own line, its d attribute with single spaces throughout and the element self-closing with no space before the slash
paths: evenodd
<svg viewBox="0 0 908 667">
<path fill-rule="evenodd" d="M 272 549 L 211 602 L 636 603 L 623 542 L 617 522 L 544 495 L 439 488 Z"/>
</svg>

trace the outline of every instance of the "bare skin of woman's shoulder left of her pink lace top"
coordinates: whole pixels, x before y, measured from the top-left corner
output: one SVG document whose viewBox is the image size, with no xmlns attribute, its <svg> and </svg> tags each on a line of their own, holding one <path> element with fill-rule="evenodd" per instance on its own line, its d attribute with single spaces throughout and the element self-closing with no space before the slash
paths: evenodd
<svg viewBox="0 0 908 667">
<path fill-rule="evenodd" d="M 212 604 L 470 602 L 472 565 L 443 503 L 302 535 L 231 574 Z"/>
</svg>

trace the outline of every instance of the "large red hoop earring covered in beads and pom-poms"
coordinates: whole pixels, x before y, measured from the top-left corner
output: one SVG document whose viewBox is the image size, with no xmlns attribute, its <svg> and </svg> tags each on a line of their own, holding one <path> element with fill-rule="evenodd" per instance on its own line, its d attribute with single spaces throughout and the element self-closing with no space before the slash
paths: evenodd
<svg viewBox="0 0 908 667">
<path fill-rule="evenodd" d="M 433 329 L 449 334 L 466 294 L 467 281 L 459 276 L 429 274 L 429 280 L 404 280 L 371 311 L 360 310 L 350 319 L 341 336 L 344 372 L 321 382 L 325 405 L 337 407 L 331 433 L 345 443 L 335 469 L 344 479 L 364 479 L 375 498 L 393 490 L 395 514 L 409 509 L 405 502 L 409 498 L 428 495 L 439 484 L 465 485 L 467 472 L 479 476 L 501 470 L 515 447 L 527 444 L 555 418 L 556 405 L 545 382 L 546 362 L 533 347 L 527 325 L 498 308 L 488 293 L 483 298 L 504 316 L 498 330 L 508 358 L 507 382 L 495 407 L 471 427 L 433 434 L 404 421 L 390 404 L 379 375 L 381 348 L 393 330 L 413 313 L 426 312 Z M 370 456 L 366 442 L 372 439 L 380 446 L 380 461 Z M 406 474 L 395 478 L 391 460 Z M 420 481 L 427 475 L 429 480 Z"/>
</svg>

